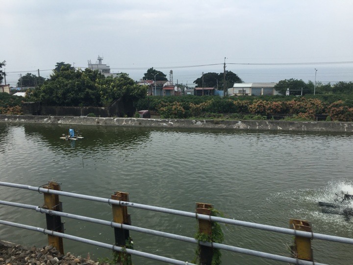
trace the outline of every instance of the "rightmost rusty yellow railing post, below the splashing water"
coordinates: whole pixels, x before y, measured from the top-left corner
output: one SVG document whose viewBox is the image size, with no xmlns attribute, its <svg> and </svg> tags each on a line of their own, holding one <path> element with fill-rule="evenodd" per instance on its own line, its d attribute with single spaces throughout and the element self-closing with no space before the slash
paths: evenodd
<svg viewBox="0 0 353 265">
<path fill-rule="evenodd" d="M 308 221 L 289 219 L 290 228 L 297 231 L 312 232 L 311 225 Z M 294 258 L 305 261 L 314 261 L 311 248 L 311 238 L 295 236 L 294 245 L 291 246 Z"/>
</svg>

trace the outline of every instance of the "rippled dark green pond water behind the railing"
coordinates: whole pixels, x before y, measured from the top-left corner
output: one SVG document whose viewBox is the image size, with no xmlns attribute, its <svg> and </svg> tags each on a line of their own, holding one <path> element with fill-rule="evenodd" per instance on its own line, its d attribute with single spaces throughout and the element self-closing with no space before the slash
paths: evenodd
<svg viewBox="0 0 353 265">
<path fill-rule="evenodd" d="M 130 201 L 194 212 L 195 202 L 214 204 L 226 217 L 279 227 L 289 219 L 312 222 L 315 233 L 353 238 L 353 221 L 321 213 L 318 201 L 333 202 L 353 191 L 351 134 L 230 132 L 76 126 L 85 137 L 59 139 L 67 126 L 0 124 L 0 181 L 40 186 L 62 183 L 64 191 L 109 198 L 130 193 Z M 43 195 L 0 186 L 0 200 L 43 205 Z M 111 206 L 60 197 L 65 212 L 111 220 Z M 194 237 L 196 220 L 128 209 L 132 225 Z M 45 216 L 0 206 L 3 220 L 45 227 Z M 113 243 L 110 227 L 65 221 L 65 233 Z M 292 237 L 223 226 L 225 243 L 288 255 Z M 185 261 L 196 246 L 130 232 L 134 248 Z M 0 238 L 43 246 L 46 236 L 0 226 Z M 347 264 L 351 245 L 313 241 L 314 258 Z M 94 259 L 110 251 L 64 239 L 65 251 Z M 223 264 L 282 264 L 223 252 Z M 161 264 L 133 256 L 134 264 Z"/>
</svg>

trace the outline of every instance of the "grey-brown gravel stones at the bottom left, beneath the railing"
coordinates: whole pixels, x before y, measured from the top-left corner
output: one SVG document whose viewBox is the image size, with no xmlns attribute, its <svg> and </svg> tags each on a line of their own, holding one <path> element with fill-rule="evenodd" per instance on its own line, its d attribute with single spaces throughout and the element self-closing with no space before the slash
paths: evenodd
<svg viewBox="0 0 353 265">
<path fill-rule="evenodd" d="M 26 248 L 21 245 L 0 240 L 0 265 L 105 265 L 105 263 L 92 261 L 87 258 L 75 257 L 68 252 L 66 255 L 59 253 L 55 247 Z"/>
</svg>

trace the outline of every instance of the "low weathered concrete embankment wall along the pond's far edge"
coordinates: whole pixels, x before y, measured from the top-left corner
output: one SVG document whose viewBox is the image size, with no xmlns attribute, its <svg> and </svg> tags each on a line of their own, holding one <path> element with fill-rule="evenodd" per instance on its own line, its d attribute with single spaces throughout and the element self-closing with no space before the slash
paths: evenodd
<svg viewBox="0 0 353 265">
<path fill-rule="evenodd" d="M 260 131 L 305 131 L 305 132 L 353 132 L 352 122 L 322 121 L 236 121 L 236 120 L 183 120 L 142 118 L 101 118 L 69 116 L 25 116 L 0 115 L 5 123 L 42 123 L 67 125 L 100 125 L 146 128 L 187 128 L 218 130 L 260 130 Z"/>
</svg>

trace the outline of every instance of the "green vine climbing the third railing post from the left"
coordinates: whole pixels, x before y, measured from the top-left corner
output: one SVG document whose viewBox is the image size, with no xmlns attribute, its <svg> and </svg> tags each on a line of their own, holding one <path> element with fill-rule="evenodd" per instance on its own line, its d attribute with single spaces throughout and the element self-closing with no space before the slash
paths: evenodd
<svg viewBox="0 0 353 265">
<path fill-rule="evenodd" d="M 221 216 L 224 217 L 223 214 L 217 211 L 214 208 L 209 209 L 211 211 L 211 216 Z M 206 241 L 206 242 L 214 242 L 214 243 L 223 243 L 224 241 L 224 234 L 222 231 L 222 227 L 219 223 L 211 221 L 211 236 L 207 236 L 201 232 L 196 233 L 195 239 L 199 241 Z M 218 248 L 213 248 L 213 256 L 212 256 L 212 265 L 220 265 L 221 264 L 221 251 Z M 195 251 L 195 258 L 192 263 L 200 264 L 199 257 L 200 257 L 200 245 L 198 245 Z"/>
</svg>

